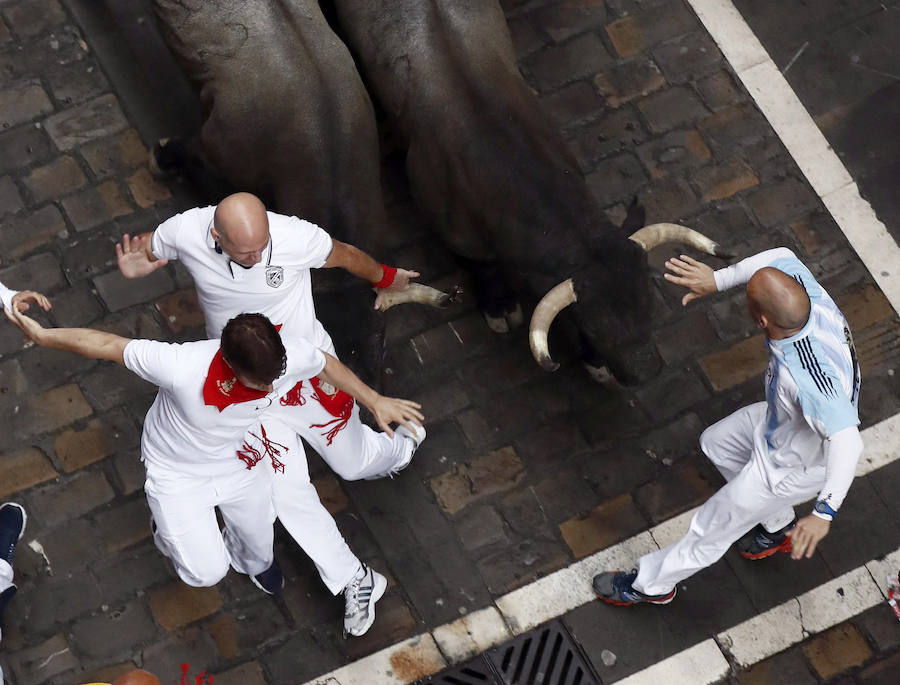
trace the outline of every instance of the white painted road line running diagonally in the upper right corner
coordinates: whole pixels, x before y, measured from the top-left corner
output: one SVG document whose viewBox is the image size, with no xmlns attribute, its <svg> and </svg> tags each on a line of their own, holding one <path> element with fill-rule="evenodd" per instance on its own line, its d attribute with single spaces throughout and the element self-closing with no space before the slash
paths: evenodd
<svg viewBox="0 0 900 685">
<path fill-rule="evenodd" d="M 809 184 L 900 312 L 900 247 L 731 0 L 687 0 Z"/>
</svg>

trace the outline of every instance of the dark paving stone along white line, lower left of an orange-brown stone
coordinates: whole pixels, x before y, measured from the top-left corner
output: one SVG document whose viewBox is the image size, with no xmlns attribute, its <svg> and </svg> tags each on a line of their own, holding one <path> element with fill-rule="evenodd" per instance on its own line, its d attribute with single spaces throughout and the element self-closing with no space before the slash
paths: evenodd
<svg viewBox="0 0 900 685">
<path fill-rule="evenodd" d="M 506 594 L 571 563 L 556 542 L 522 540 L 477 562 L 478 571 L 494 596 Z"/>
</svg>

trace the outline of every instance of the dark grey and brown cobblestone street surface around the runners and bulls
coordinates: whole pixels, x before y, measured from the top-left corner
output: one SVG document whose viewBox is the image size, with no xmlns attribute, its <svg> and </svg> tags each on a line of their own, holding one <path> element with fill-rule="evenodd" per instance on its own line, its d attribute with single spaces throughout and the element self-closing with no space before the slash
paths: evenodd
<svg viewBox="0 0 900 685">
<path fill-rule="evenodd" d="M 682 0 L 503 4 L 522 71 L 601 205 L 621 218 L 636 194 L 649 221 L 697 227 L 738 256 L 794 249 L 854 329 L 864 425 L 900 411 L 896 312 Z M 150 176 L 146 145 L 159 131 L 144 108 L 154 98 L 112 85 L 123 67 L 98 59 L 110 53 L 79 25 L 79 8 L 0 0 L 0 280 L 48 293 L 43 318 L 55 325 L 202 337 L 178 265 L 127 284 L 115 270 L 122 233 L 152 230 L 196 198 Z M 130 19 L 124 35 L 152 28 L 140 12 Z M 158 81 L 142 83 L 154 94 Z M 467 283 L 426 232 L 399 168 L 386 161 L 393 261 L 435 284 Z M 390 576 L 375 627 L 352 641 L 340 635 L 342 603 L 283 534 L 280 599 L 235 574 L 204 590 L 177 581 L 150 541 L 141 490 L 140 425 L 154 389 L 113 365 L 23 347 L 0 326 L 0 425 L 11 436 L 0 498 L 27 507 L 23 543 L 41 545 L 19 548 L 0 656 L 9 679 L 71 685 L 138 664 L 175 683 L 190 663 L 217 685 L 303 683 L 701 503 L 721 481 L 697 437 L 761 397 L 765 351 L 741 293 L 682 309 L 659 275 L 668 254 L 652 259 L 667 368 L 634 390 L 591 384 L 562 339 L 553 343 L 563 367 L 543 373 L 525 332 L 492 334 L 471 298 L 389 313 L 386 388 L 424 404 L 428 440 L 389 481 L 344 483 L 310 455 L 351 547 Z M 569 627 L 592 659 L 592 645 L 614 639 L 634 653 L 633 670 L 654 663 L 900 546 L 898 476 L 895 464 L 856 482 L 814 561 L 748 568 L 729 555 L 665 612 L 590 604 Z M 649 647 L 638 643 L 651 635 Z M 831 682 L 871 663 L 859 682 L 887 683 L 897 647 L 896 625 L 876 607 L 740 682 Z"/>
</svg>

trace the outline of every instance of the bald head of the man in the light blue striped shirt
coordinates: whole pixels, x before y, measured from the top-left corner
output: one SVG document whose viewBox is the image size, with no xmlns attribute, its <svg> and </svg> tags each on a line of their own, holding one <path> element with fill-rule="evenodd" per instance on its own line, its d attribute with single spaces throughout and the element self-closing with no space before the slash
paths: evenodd
<svg viewBox="0 0 900 685">
<path fill-rule="evenodd" d="M 783 271 L 765 267 L 747 282 L 750 316 L 773 340 L 797 333 L 809 320 L 809 295 Z"/>
</svg>

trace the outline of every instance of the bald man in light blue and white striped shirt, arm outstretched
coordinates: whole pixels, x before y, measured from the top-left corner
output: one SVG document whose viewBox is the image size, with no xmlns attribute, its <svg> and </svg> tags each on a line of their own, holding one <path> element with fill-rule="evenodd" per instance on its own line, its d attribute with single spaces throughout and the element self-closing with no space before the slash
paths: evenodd
<svg viewBox="0 0 900 685">
<path fill-rule="evenodd" d="M 594 578 L 600 599 L 621 606 L 666 604 L 676 584 L 722 557 L 811 557 L 830 529 L 862 454 L 857 428 L 859 365 L 847 321 L 809 269 L 786 248 L 713 272 L 682 255 L 666 279 L 686 286 L 683 304 L 747 284 L 747 304 L 766 332 L 765 402 L 703 432 L 700 447 L 728 481 L 694 515 L 678 542 L 644 555 L 631 573 Z M 816 497 L 797 521 L 793 507 Z"/>
</svg>

